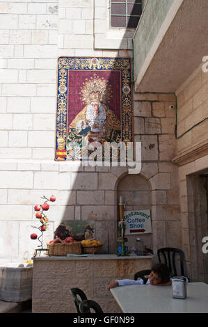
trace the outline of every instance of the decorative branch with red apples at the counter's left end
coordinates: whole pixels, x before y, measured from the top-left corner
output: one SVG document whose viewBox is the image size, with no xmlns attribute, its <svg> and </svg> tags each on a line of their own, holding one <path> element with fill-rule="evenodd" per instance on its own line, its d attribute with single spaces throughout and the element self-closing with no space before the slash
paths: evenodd
<svg viewBox="0 0 208 327">
<path fill-rule="evenodd" d="M 56 201 L 55 196 L 51 196 L 49 199 L 46 198 L 45 196 L 42 196 L 41 199 L 44 199 L 45 202 L 42 205 L 35 205 L 35 207 L 34 207 L 34 210 L 36 212 L 35 217 L 40 220 L 41 225 L 40 225 L 40 227 L 32 226 L 33 228 L 37 228 L 38 230 L 40 230 L 40 232 L 41 232 L 40 237 L 42 237 L 43 232 L 45 232 L 45 230 L 47 230 L 47 226 L 48 226 L 47 223 L 48 223 L 49 219 L 45 215 L 45 212 L 47 212 L 50 207 L 48 202 Z M 38 235 L 35 233 L 31 234 L 31 239 L 38 238 L 38 241 L 40 242 L 40 246 L 38 246 L 38 247 L 41 247 L 41 249 L 42 249 L 42 241 L 40 241 L 40 237 L 38 237 Z"/>
</svg>

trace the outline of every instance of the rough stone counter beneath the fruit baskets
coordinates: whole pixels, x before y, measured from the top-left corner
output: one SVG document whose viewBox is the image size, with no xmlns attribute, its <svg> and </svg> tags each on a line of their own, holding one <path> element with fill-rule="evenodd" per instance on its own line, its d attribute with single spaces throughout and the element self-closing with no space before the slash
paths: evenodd
<svg viewBox="0 0 208 327">
<path fill-rule="evenodd" d="M 76 313 L 70 288 L 78 287 L 105 313 L 119 313 L 106 286 L 115 279 L 133 279 L 136 271 L 150 269 L 153 257 L 33 257 L 33 312 Z"/>
</svg>

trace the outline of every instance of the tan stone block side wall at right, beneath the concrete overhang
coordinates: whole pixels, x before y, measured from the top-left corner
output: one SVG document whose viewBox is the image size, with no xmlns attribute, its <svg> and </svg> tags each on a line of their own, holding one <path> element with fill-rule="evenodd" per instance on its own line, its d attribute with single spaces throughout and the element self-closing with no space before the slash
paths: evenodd
<svg viewBox="0 0 208 327">
<path fill-rule="evenodd" d="M 207 143 L 207 90 L 208 73 L 201 65 L 177 90 L 177 155 Z"/>
</svg>

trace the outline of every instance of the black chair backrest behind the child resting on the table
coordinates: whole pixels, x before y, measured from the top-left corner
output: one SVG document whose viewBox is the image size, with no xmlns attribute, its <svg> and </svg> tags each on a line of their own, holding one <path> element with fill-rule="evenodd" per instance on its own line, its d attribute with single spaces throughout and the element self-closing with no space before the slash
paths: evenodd
<svg viewBox="0 0 208 327">
<path fill-rule="evenodd" d="M 176 255 L 179 255 L 179 269 L 177 269 L 176 263 Z M 170 270 L 170 278 L 173 276 L 184 276 L 184 252 L 179 248 L 159 248 L 157 250 L 157 256 L 159 262 L 161 263 L 161 257 L 164 258 L 164 263 L 168 266 Z"/>
</svg>

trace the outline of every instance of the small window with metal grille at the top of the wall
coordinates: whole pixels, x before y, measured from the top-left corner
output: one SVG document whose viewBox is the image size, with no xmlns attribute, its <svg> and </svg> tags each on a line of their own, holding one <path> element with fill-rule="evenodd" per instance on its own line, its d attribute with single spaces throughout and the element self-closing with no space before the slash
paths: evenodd
<svg viewBox="0 0 208 327">
<path fill-rule="evenodd" d="M 111 0 L 111 27 L 136 29 L 143 10 L 142 0 Z"/>
</svg>

